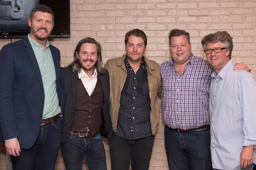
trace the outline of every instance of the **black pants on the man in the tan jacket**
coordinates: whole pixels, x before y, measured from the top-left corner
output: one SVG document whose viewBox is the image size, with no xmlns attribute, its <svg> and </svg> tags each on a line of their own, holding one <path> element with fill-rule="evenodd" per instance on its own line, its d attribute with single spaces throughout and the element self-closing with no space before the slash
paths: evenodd
<svg viewBox="0 0 256 170">
<path fill-rule="evenodd" d="M 132 158 L 132 170 L 148 170 L 154 144 L 154 136 L 126 140 L 113 132 L 110 144 L 111 170 L 128 170 Z"/>
</svg>

